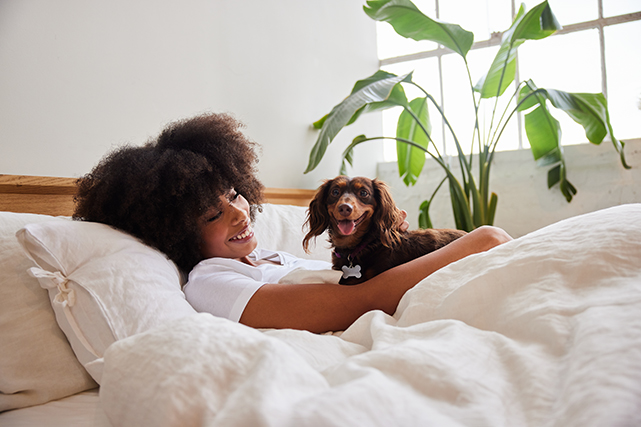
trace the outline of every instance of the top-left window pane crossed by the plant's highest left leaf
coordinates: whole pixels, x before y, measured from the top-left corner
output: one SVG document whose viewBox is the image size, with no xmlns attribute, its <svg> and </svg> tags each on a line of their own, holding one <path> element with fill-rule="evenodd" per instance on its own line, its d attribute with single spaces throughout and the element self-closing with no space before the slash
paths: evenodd
<svg viewBox="0 0 641 427">
<path fill-rule="evenodd" d="M 413 3 L 423 14 L 430 18 L 436 17 L 435 0 L 415 0 Z M 387 22 L 376 23 L 376 34 L 378 42 L 378 57 L 380 59 L 393 58 L 396 56 L 409 55 L 412 53 L 434 50 L 438 47 L 436 43 L 406 39 L 399 36 L 394 28 Z"/>
</svg>

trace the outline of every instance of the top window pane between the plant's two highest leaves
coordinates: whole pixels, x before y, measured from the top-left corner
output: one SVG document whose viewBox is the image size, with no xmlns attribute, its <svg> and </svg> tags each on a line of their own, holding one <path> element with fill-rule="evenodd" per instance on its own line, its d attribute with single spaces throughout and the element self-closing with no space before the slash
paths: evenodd
<svg viewBox="0 0 641 427">
<path fill-rule="evenodd" d="M 439 1 L 440 20 L 474 33 L 474 41 L 488 40 L 493 32 L 512 23 L 511 0 Z"/>
</svg>

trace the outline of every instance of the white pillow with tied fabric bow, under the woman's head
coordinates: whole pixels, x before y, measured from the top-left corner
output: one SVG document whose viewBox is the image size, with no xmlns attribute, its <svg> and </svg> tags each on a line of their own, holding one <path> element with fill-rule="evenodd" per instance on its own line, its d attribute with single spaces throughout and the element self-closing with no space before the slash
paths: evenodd
<svg viewBox="0 0 641 427">
<path fill-rule="evenodd" d="M 196 313 L 173 262 L 104 224 L 55 221 L 16 234 L 38 265 L 56 320 L 78 360 L 100 383 L 102 355 L 113 342 Z"/>
</svg>

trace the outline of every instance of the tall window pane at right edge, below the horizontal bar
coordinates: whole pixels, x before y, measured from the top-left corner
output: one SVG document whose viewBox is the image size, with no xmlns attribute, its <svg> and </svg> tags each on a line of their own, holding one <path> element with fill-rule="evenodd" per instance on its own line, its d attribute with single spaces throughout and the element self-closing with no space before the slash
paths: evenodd
<svg viewBox="0 0 641 427">
<path fill-rule="evenodd" d="M 619 139 L 641 137 L 641 50 L 631 47 L 636 40 L 641 40 L 641 21 L 605 28 L 608 109 Z"/>
</svg>

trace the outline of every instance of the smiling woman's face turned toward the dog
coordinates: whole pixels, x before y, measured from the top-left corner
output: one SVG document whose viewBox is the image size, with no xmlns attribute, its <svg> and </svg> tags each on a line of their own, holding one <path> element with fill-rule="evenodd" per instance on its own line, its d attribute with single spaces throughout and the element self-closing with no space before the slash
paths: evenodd
<svg viewBox="0 0 641 427">
<path fill-rule="evenodd" d="M 249 203 L 236 190 L 220 196 L 220 207 L 212 207 L 200 218 L 205 258 L 243 258 L 258 242 L 251 228 Z"/>
</svg>

